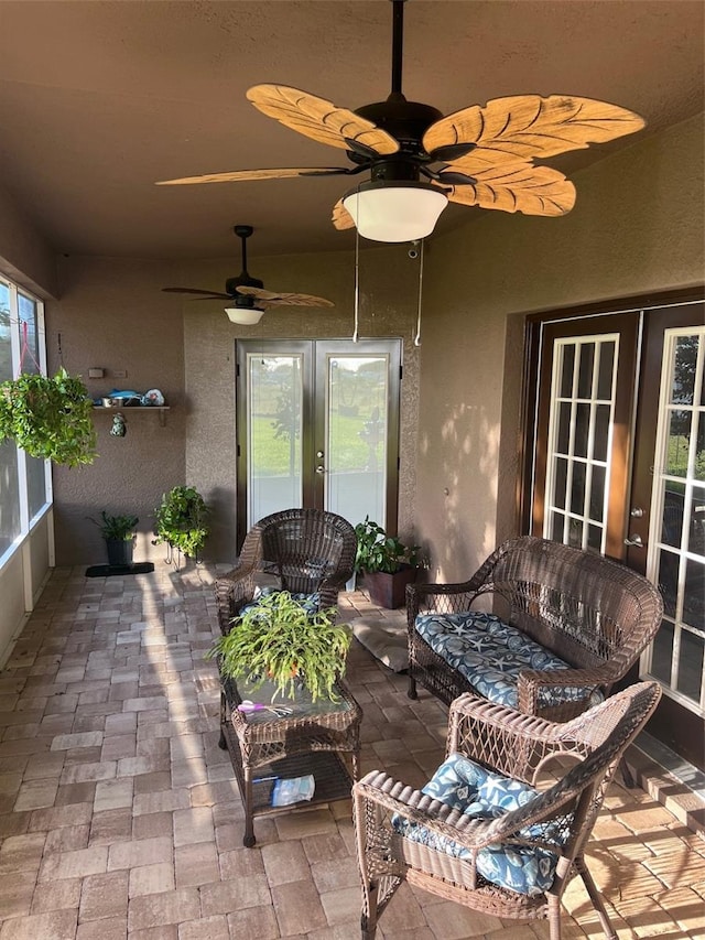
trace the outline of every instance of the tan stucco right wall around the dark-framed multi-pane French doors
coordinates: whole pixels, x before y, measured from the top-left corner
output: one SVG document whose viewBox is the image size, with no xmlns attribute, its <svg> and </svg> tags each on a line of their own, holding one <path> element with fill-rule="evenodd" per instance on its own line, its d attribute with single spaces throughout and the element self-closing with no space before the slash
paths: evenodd
<svg viewBox="0 0 705 940">
<path fill-rule="evenodd" d="M 442 580 L 516 531 L 522 316 L 703 281 L 703 118 L 575 174 L 563 218 L 480 213 L 433 239 L 416 515 Z"/>
</svg>

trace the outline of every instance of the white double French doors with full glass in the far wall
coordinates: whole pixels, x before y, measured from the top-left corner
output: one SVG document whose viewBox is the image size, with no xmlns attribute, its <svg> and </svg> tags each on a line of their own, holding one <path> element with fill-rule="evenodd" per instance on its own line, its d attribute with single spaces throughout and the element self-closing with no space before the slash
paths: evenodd
<svg viewBox="0 0 705 940">
<path fill-rule="evenodd" d="M 238 532 L 311 506 L 397 525 L 401 341 L 239 341 Z"/>
</svg>

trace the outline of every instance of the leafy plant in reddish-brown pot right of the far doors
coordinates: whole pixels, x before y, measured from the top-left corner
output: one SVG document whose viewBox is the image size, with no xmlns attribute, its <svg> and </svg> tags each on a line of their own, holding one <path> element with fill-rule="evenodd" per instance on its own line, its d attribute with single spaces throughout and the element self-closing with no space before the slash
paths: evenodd
<svg viewBox="0 0 705 940">
<path fill-rule="evenodd" d="M 388 536 L 369 516 L 355 527 L 357 553 L 355 570 L 365 575 L 370 601 L 379 607 L 402 607 L 406 585 L 416 576 L 419 545 L 406 545 L 397 536 Z"/>
</svg>

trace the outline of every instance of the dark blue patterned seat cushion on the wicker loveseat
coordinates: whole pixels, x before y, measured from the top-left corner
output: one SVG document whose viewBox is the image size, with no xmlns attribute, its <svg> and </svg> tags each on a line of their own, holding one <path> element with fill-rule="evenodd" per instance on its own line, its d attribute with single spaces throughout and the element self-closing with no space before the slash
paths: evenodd
<svg viewBox="0 0 705 940">
<path fill-rule="evenodd" d="M 467 679 L 485 699 L 516 709 L 522 669 L 570 669 L 560 657 L 534 642 L 495 614 L 425 614 L 416 617 L 416 633 L 442 659 Z M 546 685 L 539 704 L 551 705 L 585 698 L 585 690 Z M 594 693 L 590 704 L 603 696 Z"/>
</svg>

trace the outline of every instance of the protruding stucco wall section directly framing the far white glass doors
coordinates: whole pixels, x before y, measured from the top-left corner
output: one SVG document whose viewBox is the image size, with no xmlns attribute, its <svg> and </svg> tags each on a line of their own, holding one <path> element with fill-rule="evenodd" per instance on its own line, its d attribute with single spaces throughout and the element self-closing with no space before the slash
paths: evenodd
<svg viewBox="0 0 705 940">
<path fill-rule="evenodd" d="M 254 327 L 230 323 L 217 302 L 184 310 L 186 396 L 186 476 L 216 508 L 207 552 L 232 560 L 236 543 L 235 339 L 349 339 L 354 329 L 355 259 L 350 252 L 256 259 L 250 271 L 269 290 L 301 291 L 325 296 L 333 310 L 270 310 Z M 399 531 L 414 538 L 415 453 L 419 404 L 419 348 L 413 345 L 417 261 L 404 246 L 367 249 L 361 253 L 360 338 L 401 337 L 403 381 L 400 430 Z M 195 266 L 193 284 L 220 284 L 237 273 L 232 261 Z M 197 280 L 193 280 L 197 278 Z M 357 520 L 354 520 L 357 521 Z"/>
</svg>

